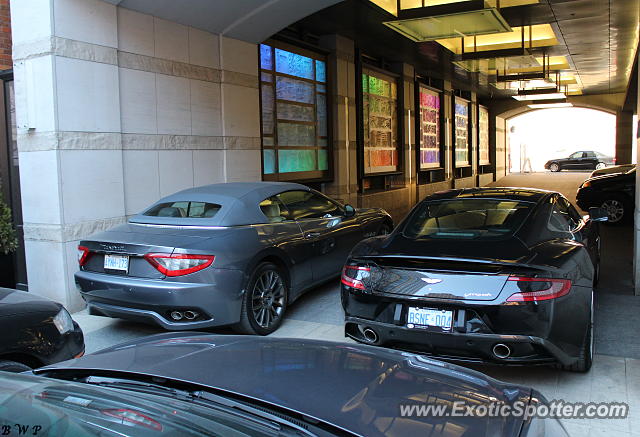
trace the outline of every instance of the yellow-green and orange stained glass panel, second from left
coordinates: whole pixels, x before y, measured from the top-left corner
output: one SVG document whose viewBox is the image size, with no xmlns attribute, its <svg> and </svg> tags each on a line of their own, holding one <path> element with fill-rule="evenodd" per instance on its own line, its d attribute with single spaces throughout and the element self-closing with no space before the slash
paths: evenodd
<svg viewBox="0 0 640 437">
<path fill-rule="evenodd" d="M 364 171 L 366 174 L 398 170 L 398 97 L 392 77 L 367 71 L 362 74 Z"/>
</svg>

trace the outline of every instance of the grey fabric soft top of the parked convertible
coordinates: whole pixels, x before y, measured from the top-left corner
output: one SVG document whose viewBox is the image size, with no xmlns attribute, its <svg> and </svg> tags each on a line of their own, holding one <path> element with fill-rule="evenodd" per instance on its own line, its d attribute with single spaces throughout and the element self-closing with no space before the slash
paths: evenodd
<svg viewBox="0 0 640 437">
<path fill-rule="evenodd" d="M 130 223 L 170 226 L 240 226 L 269 223 L 260 210 L 260 202 L 283 191 L 304 190 L 309 187 L 289 182 L 230 182 L 205 185 L 179 191 L 163 197 L 147 210 L 172 202 L 206 202 L 220 205 L 210 218 L 152 217 L 143 213 L 129 219 Z"/>
</svg>

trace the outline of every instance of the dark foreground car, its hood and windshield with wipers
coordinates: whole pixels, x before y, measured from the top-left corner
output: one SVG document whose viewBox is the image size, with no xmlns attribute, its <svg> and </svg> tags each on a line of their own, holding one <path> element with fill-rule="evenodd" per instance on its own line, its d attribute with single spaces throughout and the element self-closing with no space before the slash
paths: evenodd
<svg viewBox="0 0 640 437">
<path fill-rule="evenodd" d="M 0 373 L 0 423 L 39 424 L 41 436 L 567 436 L 553 418 L 407 414 L 429 405 L 451 413 L 456 401 L 523 409 L 547 401 L 366 345 L 165 333 L 34 373 Z"/>
</svg>

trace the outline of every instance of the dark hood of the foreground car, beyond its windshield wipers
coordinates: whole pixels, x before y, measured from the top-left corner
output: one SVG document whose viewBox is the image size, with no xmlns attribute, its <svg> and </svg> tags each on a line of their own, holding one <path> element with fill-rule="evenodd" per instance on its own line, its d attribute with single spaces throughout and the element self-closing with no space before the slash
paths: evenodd
<svg viewBox="0 0 640 437">
<path fill-rule="evenodd" d="M 516 436 L 520 419 L 409 418 L 401 417 L 400 405 L 449 405 L 463 399 L 476 405 L 528 402 L 532 395 L 531 389 L 406 352 L 198 333 L 159 334 L 35 371 L 54 377 L 92 372 L 151 375 L 208 386 L 366 436 Z"/>
</svg>

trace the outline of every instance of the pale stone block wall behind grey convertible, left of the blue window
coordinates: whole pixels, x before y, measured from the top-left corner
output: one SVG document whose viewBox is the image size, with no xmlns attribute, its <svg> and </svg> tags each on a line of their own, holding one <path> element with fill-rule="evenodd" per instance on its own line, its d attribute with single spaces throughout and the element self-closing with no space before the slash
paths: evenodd
<svg viewBox="0 0 640 437">
<path fill-rule="evenodd" d="M 258 49 L 100 0 L 12 0 L 11 18 L 29 291 L 73 311 L 80 239 L 261 178 Z"/>
</svg>

